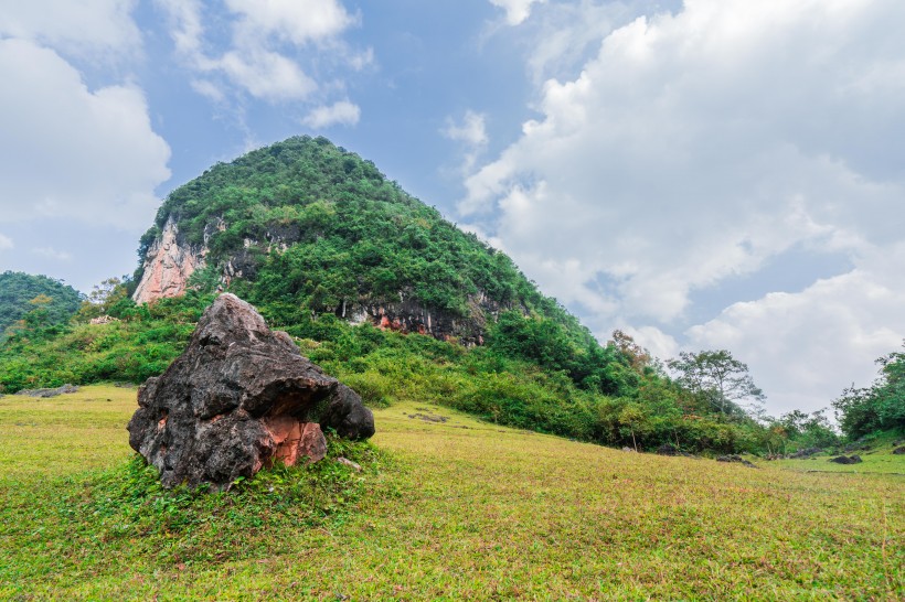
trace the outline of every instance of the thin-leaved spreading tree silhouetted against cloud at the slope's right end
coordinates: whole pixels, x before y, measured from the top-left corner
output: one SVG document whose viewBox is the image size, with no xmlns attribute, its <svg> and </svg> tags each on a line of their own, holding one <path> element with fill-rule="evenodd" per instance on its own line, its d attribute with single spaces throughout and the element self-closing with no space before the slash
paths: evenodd
<svg viewBox="0 0 905 602">
<path fill-rule="evenodd" d="M 723 415 L 755 411 L 765 398 L 748 366 L 726 350 L 682 352 L 667 365 L 679 373 L 680 385 Z"/>
</svg>

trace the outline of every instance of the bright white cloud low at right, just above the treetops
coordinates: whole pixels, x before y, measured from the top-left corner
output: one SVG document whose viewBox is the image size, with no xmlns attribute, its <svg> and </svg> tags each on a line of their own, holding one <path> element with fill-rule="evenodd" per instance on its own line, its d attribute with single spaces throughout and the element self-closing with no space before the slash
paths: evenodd
<svg viewBox="0 0 905 602">
<path fill-rule="evenodd" d="M 874 250 L 852 271 L 797 293 L 735 303 L 689 331 L 696 348 L 744 357 L 777 412 L 826 407 L 844 387 L 869 385 L 873 361 L 905 336 L 905 245 Z"/>
</svg>

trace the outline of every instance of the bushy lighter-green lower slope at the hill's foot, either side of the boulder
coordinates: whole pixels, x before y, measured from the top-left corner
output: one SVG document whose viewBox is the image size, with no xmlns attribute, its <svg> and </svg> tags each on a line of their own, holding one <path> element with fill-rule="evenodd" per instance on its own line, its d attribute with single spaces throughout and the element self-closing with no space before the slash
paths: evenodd
<svg viewBox="0 0 905 602">
<path fill-rule="evenodd" d="M 136 305 L 114 292 L 98 307 L 83 308 L 64 332 L 23 329 L 0 348 L 0 387 L 14 393 L 64 383 L 141 383 L 182 352 L 212 299 L 190 291 Z M 95 313 L 117 320 L 86 323 Z M 777 433 L 739 409 L 715 411 L 714 391 L 695 393 L 671 379 L 624 333 L 597 347 L 611 358 L 606 369 L 617 384 L 604 394 L 576 384 L 578 368 L 569 364 L 561 331 L 546 332 L 537 326 L 544 322 L 520 316 L 511 321 L 531 329 L 512 331 L 503 319 L 490 325 L 488 344 L 477 347 L 353 326 L 331 313 L 272 325 L 290 332 L 304 354 L 373 407 L 436 402 L 489 422 L 637 449 L 669 443 L 692 452 L 766 452 L 788 443 L 791 431 Z"/>
</svg>

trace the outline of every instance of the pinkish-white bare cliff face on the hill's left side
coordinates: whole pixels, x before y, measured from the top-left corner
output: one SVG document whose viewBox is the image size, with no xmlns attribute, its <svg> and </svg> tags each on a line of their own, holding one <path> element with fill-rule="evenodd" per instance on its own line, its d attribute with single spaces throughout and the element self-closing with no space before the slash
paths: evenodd
<svg viewBox="0 0 905 602">
<path fill-rule="evenodd" d="M 170 216 L 160 237 L 148 248 L 132 300 L 148 303 L 183 294 L 192 273 L 204 267 L 205 252 L 204 247 L 192 247 L 180 240 L 175 219 Z"/>
</svg>

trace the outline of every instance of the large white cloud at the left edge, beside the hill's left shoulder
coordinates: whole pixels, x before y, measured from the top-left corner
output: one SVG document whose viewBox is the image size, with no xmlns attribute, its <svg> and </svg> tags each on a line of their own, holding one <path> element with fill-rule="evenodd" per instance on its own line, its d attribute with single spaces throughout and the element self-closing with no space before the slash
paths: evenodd
<svg viewBox="0 0 905 602">
<path fill-rule="evenodd" d="M 170 149 L 141 90 L 89 90 L 55 52 L 22 40 L 0 40 L 0 222 L 146 227 Z"/>
</svg>

